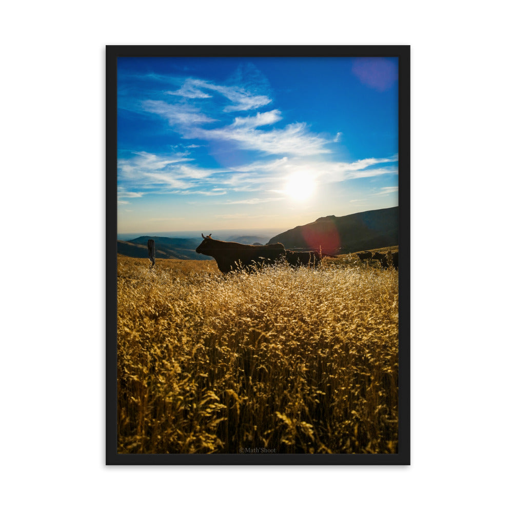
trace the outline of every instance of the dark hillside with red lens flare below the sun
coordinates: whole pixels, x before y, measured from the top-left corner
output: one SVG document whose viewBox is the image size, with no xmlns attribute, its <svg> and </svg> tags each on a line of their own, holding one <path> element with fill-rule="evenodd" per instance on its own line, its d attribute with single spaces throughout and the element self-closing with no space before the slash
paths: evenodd
<svg viewBox="0 0 513 513">
<path fill-rule="evenodd" d="M 274 236 L 287 249 L 321 249 L 345 254 L 399 244 L 399 207 L 367 210 L 337 217 L 328 215 Z"/>
</svg>

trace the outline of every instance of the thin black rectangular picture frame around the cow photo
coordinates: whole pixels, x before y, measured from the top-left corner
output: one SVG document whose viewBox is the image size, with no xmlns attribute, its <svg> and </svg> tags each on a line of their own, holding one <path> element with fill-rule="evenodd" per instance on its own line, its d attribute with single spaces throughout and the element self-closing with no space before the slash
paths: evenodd
<svg viewBox="0 0 513 513">
<path fill-rule="evenodd" d="M 118 57 L 399 58 L 399 449 L 394 454 L 117 453 L 117 75 Z M 107 465 L 409 465 L 410 464 L 410 47 L 409 46 L 107 46 L 106 47 L 106 464 Z"/>
</svg>

